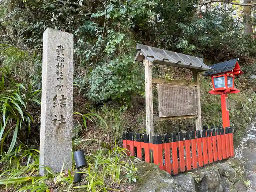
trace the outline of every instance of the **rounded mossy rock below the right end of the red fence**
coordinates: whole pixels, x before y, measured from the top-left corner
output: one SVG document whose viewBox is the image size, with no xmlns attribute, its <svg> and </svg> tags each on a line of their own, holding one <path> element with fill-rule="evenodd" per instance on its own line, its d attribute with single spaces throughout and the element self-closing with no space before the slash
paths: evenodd
<svg viewBox="0 0 256 192">
<path fill-rule="evenodd" d="M 239 179 L 236 171 L 227 163 L 217 164 L 216 167 L 219 169 L 221 176 L 228 177 L 231 182 L 236 182 Z"/>
</svg>

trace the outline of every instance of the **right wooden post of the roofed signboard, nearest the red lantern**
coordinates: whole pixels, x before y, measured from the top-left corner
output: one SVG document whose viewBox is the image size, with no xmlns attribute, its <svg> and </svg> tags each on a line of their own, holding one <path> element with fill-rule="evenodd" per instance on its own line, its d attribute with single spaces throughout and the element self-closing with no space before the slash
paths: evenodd
<svg viewBox="0 0 256 192">
<path fill-rule="evenodd" d="M 196 85 L 196 109 L 197 109 L 196 131 L 197 130 L 202 131 L 199 73 L 196 71 L 192 71 L 192 72 L 193 72 L 193 80 Z"/>
</svg>

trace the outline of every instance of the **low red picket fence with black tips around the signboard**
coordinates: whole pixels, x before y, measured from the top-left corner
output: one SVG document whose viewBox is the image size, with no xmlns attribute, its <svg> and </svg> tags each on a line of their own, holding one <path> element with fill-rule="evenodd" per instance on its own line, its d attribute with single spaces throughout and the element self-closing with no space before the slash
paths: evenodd
<svg viewBox="0 0 256 192">
<path fill-rule="evenodd" d="M 132 132 L 123 134 L 123 148 L 127 154 L 148 163 L 154 162 L 170 174 L 196 169 L 214 161 L 234 156 L 233 129 L 230 127 L 201 131 L 179 132 L 153 136 Z M 153 154 L 153 156 L 151 156 Z"/>
</svg>

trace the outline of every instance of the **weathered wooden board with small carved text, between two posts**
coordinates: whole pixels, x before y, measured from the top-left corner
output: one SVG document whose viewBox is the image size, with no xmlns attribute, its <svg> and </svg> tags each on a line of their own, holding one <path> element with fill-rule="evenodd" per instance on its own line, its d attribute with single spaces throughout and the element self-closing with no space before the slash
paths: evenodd
<svg viewBox="0 0 256 192">
<path fill-rule="evenodd" d="M 197 114 L 195 87 L 157 84 L 157 90 L 159 117 Z"/>
</svg>

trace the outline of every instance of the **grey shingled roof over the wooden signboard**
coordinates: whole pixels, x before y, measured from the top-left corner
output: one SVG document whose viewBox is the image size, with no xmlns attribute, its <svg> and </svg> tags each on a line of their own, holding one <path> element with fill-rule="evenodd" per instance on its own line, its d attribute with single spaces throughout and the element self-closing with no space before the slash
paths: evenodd
<svg viewBox="0 0 256 192">
<path fill-rule="evenodd" d="M 147 45 L 137 44 L 135 61 L 143 61 L 146 58 L 154 63 L 170 65 L 174 67 L 196 69 L 197 71 L 209 71 L 211 67 L 203 63 L 199 57 L 176 53 L 164 49 L 158 49 Z"/>
</svg>

